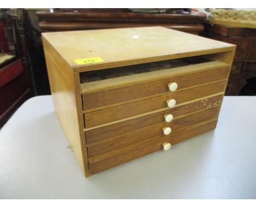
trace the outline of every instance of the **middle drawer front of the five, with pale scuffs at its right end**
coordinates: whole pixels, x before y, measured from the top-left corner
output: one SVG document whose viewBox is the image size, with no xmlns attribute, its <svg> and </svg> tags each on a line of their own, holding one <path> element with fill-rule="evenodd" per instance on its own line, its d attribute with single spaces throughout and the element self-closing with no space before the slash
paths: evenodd
<svg viewBox="0 0 256 208">
<path fill-rule="evenodd" d="M 147 126 L 159 124 L 165 121 L 165 114 L 172 114 L 173 120 L 182 115 L 203 111 L 212 107 L 217 107 L 222 101 L 223 95 L 208 97 L 194 102 L 187 103 L 182 106 L 177 106 L 165 111 L 156 112 L 142 117 L 125 120 L 112 125 L 102 126 L 85 132 L 86 144 L 100 142 L 104 139 L 121 136 L 126 132 L 132 132 L 138 129 L 143 129 Z"/>
</svg>

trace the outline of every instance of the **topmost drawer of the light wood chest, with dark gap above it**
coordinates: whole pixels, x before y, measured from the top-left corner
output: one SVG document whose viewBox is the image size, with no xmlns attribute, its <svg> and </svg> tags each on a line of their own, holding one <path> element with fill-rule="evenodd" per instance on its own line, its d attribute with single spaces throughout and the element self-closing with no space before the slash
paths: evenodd
<svg viewBox="0 0 256 208">
<path fill-rule="evenodd" d="M 83 110 L 94 111 L 216 82 L 228 78 L 229 68 L 219 60 L 196 56 L 82 72 Z M 177 89 L 171 89 L 172 83 Z"/>
</svg>

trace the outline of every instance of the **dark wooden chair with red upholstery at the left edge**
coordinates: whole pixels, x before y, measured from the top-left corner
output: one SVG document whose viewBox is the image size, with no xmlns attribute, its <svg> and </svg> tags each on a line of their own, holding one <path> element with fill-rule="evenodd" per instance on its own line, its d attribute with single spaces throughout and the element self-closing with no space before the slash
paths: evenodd
<svg viewBox="0 0 256 208">
<path fill-rule="evenodd" d="M 0 128 L 33 94 L 24 18 L 24 9 L 0 10 Z"/>
</svg>

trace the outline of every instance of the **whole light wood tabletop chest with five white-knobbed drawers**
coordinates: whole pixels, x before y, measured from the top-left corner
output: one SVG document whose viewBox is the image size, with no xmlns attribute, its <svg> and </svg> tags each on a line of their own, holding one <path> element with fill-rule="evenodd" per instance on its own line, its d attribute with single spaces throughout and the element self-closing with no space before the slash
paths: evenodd
<svg viewBox="0 0 256 208">
<path fill-rule="evenodd" d="M 213 130 L 235 53 L 164 27 L 43 33 L 43 46 L 55 112 L 85 176 Z"/>
</svg>

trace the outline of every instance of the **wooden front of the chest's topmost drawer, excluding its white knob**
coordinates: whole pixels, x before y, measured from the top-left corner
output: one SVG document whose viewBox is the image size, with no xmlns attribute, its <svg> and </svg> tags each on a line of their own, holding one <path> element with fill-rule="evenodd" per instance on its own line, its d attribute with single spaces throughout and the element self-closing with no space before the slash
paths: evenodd
<svg viewBox="0 0 256 208">
<path fill-rule="evenodd" d="M 158 79 L 156 81 L 134 83 L 123 87 L 92 91 L 82 95 L 84 111 L 141 99 L 142 97 L 168 93 L 170 92 L 168 83 L 172 82 L 177 83 L 177 90 L 180 90 L 194 85 L 226 79 L 228 76 L 229 67 L 224 67 L 219 69 L 208 69 L 193 74 Z"/>
</svg>

